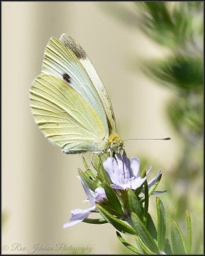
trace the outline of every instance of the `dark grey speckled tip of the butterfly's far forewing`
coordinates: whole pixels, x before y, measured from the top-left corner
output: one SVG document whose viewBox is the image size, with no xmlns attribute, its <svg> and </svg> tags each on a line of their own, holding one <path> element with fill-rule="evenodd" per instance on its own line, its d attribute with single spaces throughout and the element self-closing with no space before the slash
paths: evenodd
<svg viewBox="0 0 205 256">
<path fill-rule="evenodd" d="M 83 50 L 81 45 L 76 40 L 74 40 L 72 37 L 64 34 L 63 36 L 61 36 L 60 40 L 61 40 L 61 42 L 66 44 L 66 47 L 68 47 L 77 56 L 78 59 L 80 59 L 80 60 L 86 59 L 87 55 L 86 55 L 85 51 Z"/>
</svg>

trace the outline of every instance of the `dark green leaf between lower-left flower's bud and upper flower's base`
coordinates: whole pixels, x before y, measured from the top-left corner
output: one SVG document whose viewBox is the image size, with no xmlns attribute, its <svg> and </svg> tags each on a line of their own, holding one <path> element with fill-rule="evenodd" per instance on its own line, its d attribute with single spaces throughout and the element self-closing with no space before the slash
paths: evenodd
<svg viewBox="0 0 205 256">
<path fill-rule="evenodd" d="M 123 214 L 122 207 L 118 199 L 118 196 L 115 194 L 115 191 L 113 190 L 113 188 L 111 188 L 111 186 L 108 183 L 104 183 L 103 187 L 105 189 L 105 193 L 109 201 L 109 206 L 115 209 L 115 211 L 118 212 L 118 215 L 122 215 Z"/>
</svg>

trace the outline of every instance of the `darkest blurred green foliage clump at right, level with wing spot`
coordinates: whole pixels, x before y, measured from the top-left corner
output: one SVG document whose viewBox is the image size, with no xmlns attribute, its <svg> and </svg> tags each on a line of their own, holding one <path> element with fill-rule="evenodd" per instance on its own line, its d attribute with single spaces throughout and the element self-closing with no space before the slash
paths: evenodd
<svg viewBox="0 0 205 256">
<path fill-rule="evenodd" d="M 177 54 L 166 60 L 148 63 L 144 68 L 162 84 L 181 93 L 200 92 L 203 84 L 202 56 Z"/>
</svg>

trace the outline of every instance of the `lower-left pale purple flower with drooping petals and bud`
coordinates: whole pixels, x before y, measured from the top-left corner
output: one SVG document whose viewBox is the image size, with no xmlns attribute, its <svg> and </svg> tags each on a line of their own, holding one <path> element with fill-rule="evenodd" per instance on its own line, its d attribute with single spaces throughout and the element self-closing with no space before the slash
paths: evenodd
<svg viewBox="0 0 205 256">
<path fill-rule="evenodd" d="M 105 194 L 104 188 L 96 188 L 95 192 L 90 190 L 90 188 L 87 188 L 86 185 L 83 183 L 80 177 L 78 177 L 83 185 L 83 189 L 85 190 L 85 193 L 87 194 L 87 200 L 90 204 L 91 207 L 87 209 L 74 209 L 71 211 L 71 218 L 64 224 L 64 229 L 66 227 L 72 227 L 79 222 L 82 222 L 87 218 L 91 212 L 96 211 L 96 202 L 102 202 L 104 199 L 107 199 L 107 196 Z"/>
</svg>

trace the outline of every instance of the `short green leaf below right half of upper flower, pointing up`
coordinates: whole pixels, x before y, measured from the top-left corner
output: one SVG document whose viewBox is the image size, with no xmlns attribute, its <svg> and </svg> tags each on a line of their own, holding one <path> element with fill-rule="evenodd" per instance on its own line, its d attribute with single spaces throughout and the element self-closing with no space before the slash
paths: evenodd
<svg viewBox="0 0 205 256">
<path fill-rule="evenodd" d="M 135 195 L 133 190 L 128 190 L 128 204 L 131 212 L 135 212 L 141 220 L 143 220 L 143 210 L 142 205 L 139 203 L 138 197 Z"/>
</svg>

